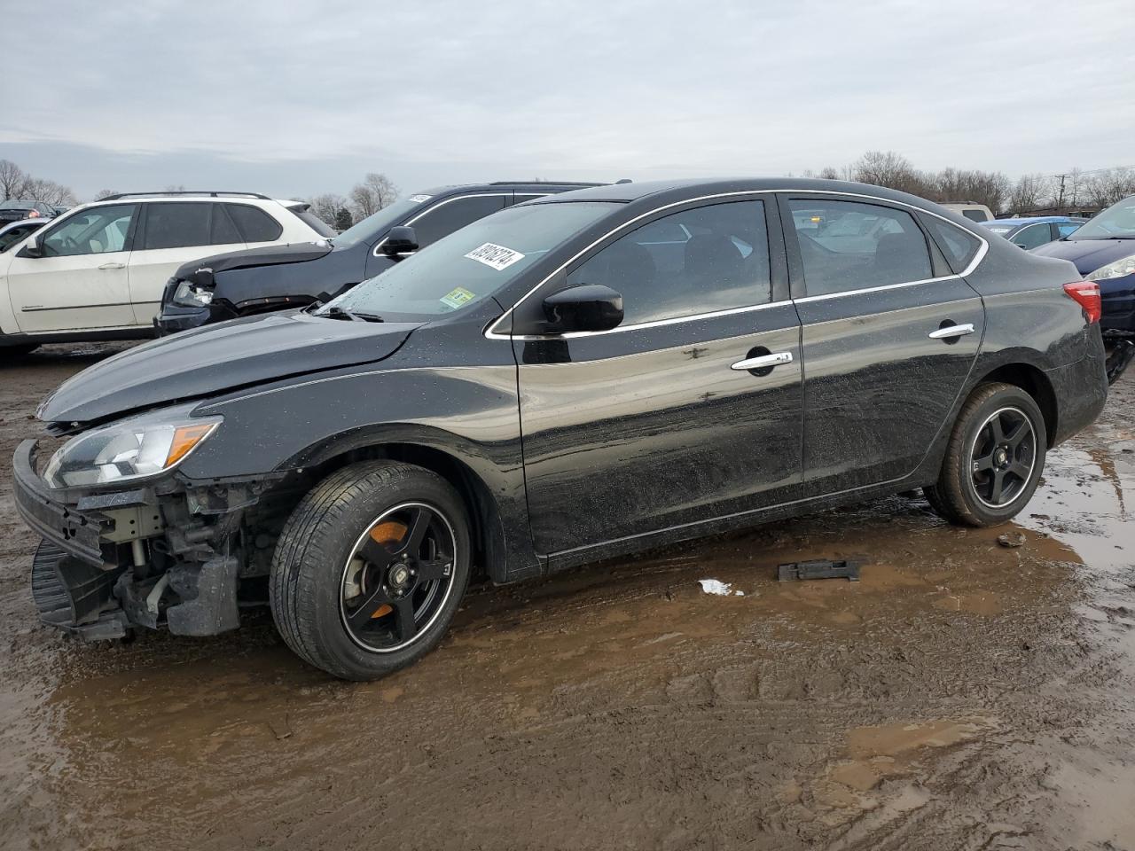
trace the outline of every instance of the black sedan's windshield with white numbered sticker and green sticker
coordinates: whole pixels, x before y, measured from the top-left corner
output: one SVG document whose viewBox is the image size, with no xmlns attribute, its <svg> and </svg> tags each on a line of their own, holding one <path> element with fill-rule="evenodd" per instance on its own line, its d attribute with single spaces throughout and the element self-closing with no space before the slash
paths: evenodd
<svg viewBox="0 0 1135 851">
<path fill-rule="evenodd" d="M 611 202 L 512 207 L 438 239 L 320 307 L 384 319 L 440 317 L 489 297 L 615 209 Z"/>
</svg>

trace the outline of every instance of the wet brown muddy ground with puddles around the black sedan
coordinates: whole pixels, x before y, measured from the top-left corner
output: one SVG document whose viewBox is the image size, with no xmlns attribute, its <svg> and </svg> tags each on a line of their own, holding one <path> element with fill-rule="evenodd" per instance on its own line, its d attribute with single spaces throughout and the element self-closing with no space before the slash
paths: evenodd
<svg viewBox="0 0 1135 851">
<path fill-rule="evenodd" d="M 8 460 L 114 349 L 0 368 L 5 849 L 1135 849 L 1135 376 L 1019 525 L 896 497 L 480 588 L 426 660 L 346 684 L 270 620 L 39 625 Z M 774 581 L 821 556 L 863 581 Z"/>
</svg>

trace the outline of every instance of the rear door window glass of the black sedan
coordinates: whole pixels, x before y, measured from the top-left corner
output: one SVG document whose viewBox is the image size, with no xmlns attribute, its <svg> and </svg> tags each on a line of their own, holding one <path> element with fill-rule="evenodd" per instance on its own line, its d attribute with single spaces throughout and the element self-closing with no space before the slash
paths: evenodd
<svg viewBox="0 0 1135 851">
<path fill-rule="evenodd" d="M 905 210 L 857 201 L 790 199 L 809 296 L 934 277 L 930 246 Z"/>
</svg>

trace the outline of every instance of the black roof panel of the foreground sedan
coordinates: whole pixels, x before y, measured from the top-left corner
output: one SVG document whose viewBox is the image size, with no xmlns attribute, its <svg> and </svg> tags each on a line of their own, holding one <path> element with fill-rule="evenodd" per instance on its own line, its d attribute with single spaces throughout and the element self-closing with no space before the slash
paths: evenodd
<svg viewBox="0 0 1135 851">
<path fill-rule="evenodd" d="M 577 189 L 562 195 L 554 195 L 533 204 L 558 204 L 574 201 L 616 201 L 632 203 L 641 199 L 653 201 L 681 202 L 683 200 L 706 195 L 729 195 L 739 192 L 824 192 L 844 195 L 867 195 L 885 201 L 898 201 L 924 210 L 938 207 L 932 201 L 910 195 L 906 192 L 889 189 L 885 186 L 855 183 L 854 180 L 825 180 L 814 177 L 732 177 L 703 178 L 687 180 L 644 180 L 641 183 L 620 183 Z M 973 222 L 970 222 L 973 224 Z"/>
</svg>

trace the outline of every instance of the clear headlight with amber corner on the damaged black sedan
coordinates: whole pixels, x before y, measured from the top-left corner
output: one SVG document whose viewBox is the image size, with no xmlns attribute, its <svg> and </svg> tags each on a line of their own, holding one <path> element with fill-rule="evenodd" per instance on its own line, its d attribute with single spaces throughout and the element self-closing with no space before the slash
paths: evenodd
<svg viewBox="0 0 1135 851">
<path fill-rule="evenodd" d="M 157 475 L 177 466 L 220 423 L 220 416 L 142 418 L 93 429 L 64 444 L 43 479 L 52 488 L 78 488 Z"/>
</svg>

